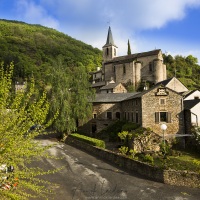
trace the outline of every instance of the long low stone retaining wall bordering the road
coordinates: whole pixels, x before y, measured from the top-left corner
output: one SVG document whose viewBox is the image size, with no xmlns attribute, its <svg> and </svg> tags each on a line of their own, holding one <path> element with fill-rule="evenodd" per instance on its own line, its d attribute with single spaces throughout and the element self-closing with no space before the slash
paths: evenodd
<svg viewBox="0 0 200 200">
<path fill-rule="evenodd" d="M 112 151 L 88 145 L 68 136 L 66 144 L 72 145 L 88 153 L 98 156 L 123 169 L 136 172 L 152 180 L 170 185 L 200 188 L 200 174 L 188 171 L 162 170 L 148 164 L 129 159 Z"/>
</svg>

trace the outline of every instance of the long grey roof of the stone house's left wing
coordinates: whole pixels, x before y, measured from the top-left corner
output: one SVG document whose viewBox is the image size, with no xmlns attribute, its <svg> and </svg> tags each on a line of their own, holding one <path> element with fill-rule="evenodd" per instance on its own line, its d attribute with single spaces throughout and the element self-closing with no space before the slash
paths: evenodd
<svg viewBox="0 0 200 200">
<path fill-rule="evenodd" d="M 136 93 L 107 93 L 107 94 L 96 94 L 93 103 L 115 103 L 121 102 L 125 99 L 136 95 Z"/>
</svg>

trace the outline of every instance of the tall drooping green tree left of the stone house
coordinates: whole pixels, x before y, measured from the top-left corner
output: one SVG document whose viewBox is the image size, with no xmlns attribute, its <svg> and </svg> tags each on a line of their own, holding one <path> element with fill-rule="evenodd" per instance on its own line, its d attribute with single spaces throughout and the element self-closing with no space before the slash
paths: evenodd
<svg viewBox="0 0 200 200">
<path fill-rule="evenodd" d="M 94 91 L 89 85 L 89 75 L 81 64 L 66 66 L 64 58 L 58 56 L 49 75 L 50 118 L 59 110 L 53 128 L 63 134 L 77 129 L 91 116 Z M 64 136 L 64 135 L 63 135 Z"/>
</svg>

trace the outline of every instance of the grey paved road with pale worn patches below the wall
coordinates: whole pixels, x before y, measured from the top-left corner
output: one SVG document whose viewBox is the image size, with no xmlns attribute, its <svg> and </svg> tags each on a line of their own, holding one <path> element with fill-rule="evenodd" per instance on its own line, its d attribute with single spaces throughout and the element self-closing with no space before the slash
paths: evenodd
<svg viewBox="0 0 200 200">
<path fill-rule="evenodd" d="M 52 140 L 41 140 L 51 144 Z M 87 153 L 63 143 L 49 150 L 60 160 L 44 159 L 37 163 L 45 169 L 64 166 L 63 170 L 45 178 L 57 183 L 55 200 L 198 200 L 200 189 L 170 186 L 129 174 Z"/>
</svg>

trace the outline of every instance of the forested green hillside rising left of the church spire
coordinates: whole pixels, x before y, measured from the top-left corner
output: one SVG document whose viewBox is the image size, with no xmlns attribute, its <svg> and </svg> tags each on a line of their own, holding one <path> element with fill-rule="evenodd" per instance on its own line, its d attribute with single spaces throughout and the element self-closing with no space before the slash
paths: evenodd
<svg viewBox="0 0 200 200">
<path fill-rule="evenodd" d="M 0 62 L 14 61 L 16 80 L 33 74 L 40 79 L 58 57 L 65 65 L 78 63 L 91 71 L 101 65 L 102 52 L 51 28 L 0 20 Z"/>
</svg>

